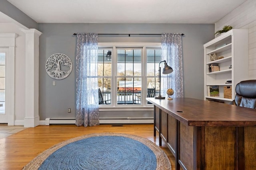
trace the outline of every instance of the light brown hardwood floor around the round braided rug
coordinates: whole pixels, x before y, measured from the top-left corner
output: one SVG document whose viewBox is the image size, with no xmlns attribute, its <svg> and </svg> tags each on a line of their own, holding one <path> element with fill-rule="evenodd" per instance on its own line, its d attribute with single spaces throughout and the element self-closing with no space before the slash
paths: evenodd
<svg viewBox="0 0 256 170">
<path fill-rule="evenodd" d="M 0 139 L 0 170 L 21 170 L 34 157 L 57 143 L 81 135 L 104 132 L 138 135 L 158 145 L 158 137 L 153 136 L 152 124 L 98 125 L 94 127 L 40 125 L 24 129 L 14 135 Z M 162 145 L 161 148 L 166 152 L 172 164 L 172 170 L 175 170 L 174 156 L 164 142 L 162 142 Z"/>
</svg>

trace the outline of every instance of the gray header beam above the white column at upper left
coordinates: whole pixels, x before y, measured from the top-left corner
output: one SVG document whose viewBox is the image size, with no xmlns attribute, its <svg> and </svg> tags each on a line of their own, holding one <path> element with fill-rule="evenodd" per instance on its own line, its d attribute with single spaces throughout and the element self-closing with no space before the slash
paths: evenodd
<svg viewBox="0 0 256 170">
<path fill-rule="evenodd" d="M 38 29 L 38 23 L 36 21 L 34 21 L 32 18 L 27 16 L 25 13 L 23 13 L 15 6 L 13 6 L 7 0 L 0 0 L 0 12 L 18 21 L 27 28 Z"/>
</svg>

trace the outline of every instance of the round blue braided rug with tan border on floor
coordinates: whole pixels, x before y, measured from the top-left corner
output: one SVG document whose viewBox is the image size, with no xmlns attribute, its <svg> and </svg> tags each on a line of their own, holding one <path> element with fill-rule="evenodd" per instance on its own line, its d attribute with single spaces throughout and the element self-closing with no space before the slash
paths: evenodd
<svg viewBox="0 0 256 170">
<path fill-rule="evenodd" d="M 136 135 L 97 133 L 44 151 L 24 170 L 171 170 L 165 152 Z"/>
</svg>

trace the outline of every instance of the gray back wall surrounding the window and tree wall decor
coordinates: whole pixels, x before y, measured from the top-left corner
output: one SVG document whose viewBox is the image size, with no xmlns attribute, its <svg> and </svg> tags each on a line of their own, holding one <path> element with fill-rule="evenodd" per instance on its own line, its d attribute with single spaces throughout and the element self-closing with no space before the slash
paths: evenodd
<svg viewBox="0 0 256 170">
<path fill-rule="evenodd" d="M 39 23 L 42 32 L 39 45 L 39 116 L 75 117 L 75 53 L 77 32 L 95 33 L 184 33 L 183 73 L 184 97 L 204 99 L 204 48 L 214 39 L 214 24 L 104 24 L 104 23 Z M 160 36 L 99 36 L 102 42 L 160 43 Z M 53 79 L 45 71 L 46 60 L 55 53 L 68 55 L 73 63 L 71 74 L 63 80 Z M 72 113 L 67 113 L 67 108 Z M 125 114 L 130 114 L 126 112 Z M 152 111 L 134 112 L 134 117 L 153 117 Z M 100 112 L 100 117 L 124 117 L 124 112 Z M 126 116 L 127 117 L 127 116 Z M 129 117 L 132 117 L 130 115 Z"/>
</svg>

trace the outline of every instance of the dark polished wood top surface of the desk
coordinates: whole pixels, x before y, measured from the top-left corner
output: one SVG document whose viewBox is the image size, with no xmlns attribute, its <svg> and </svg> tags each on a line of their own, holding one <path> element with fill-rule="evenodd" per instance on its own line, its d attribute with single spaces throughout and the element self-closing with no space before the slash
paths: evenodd
<svg viewBox="0 0 256 170">
<path fill-rule="evenodd" d="M 146 98 L 149 102 L 190 126 L 256 126 L 256 109 L 193 98 L 173 100 Z"/>
</svg>

